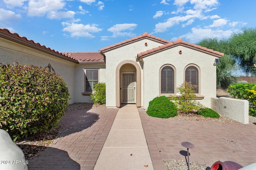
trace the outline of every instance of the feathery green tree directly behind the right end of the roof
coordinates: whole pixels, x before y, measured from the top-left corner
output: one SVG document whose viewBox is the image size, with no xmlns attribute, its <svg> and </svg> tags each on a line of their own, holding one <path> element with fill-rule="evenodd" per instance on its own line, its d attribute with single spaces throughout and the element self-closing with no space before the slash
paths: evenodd
<svg viewBox="0 0 256 170">
<path fill-rule="evenodd" d="M 228 40 L 206 38 L 202 39 L 198 45 L 224 53 L 224 56 L 219 59 L 220 63 L 216 64 L 216 83 L 218 87 L 226 89 L 229 84 L 236 82 L 236 77 L 232 75 L 232 71 L 236 69 L 236 61 L 231 55 L 228 55 L 230 51 Z"/>
</svg>

